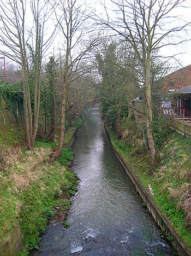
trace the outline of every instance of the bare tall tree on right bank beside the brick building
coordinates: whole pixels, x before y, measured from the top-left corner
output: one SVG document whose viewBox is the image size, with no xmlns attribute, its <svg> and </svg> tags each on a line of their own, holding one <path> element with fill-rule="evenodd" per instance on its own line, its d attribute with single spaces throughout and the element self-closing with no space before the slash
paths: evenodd
<svg viewBox="0 0 191 256">
<path fill-rule="evenodd" d="M 181 37 L 178 37 L 176 42 L 172 38 L 176 36 L 177 39 L 178 32 L 186 29 L 189 24 L 181 18 L 179 19 L 178 16 L 175 17 L 174 11 L 187 0 L 111 0 L 111 2 L 116 7 L 117 20 L 111 19 L 106 6 L 104 7 L 107 18 L 98 18 L 98 20 L 102 25 L 124 37 L 135 50 L 141 63 L 145 88 L 148 144 L 154 160 L 156 149 L 151 129 L 153 118 L 150 80 L 151 57 L 153 51 L 163 46 L 183 42 Z"/>
</svg>

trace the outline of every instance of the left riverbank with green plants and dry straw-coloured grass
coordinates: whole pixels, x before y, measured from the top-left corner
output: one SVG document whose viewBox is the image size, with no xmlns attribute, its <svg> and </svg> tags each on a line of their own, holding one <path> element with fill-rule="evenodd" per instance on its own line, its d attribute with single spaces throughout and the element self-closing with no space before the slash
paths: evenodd
<svg viewBox="0 0 191 256">
<path fill-rule="evenodd" d="M 68 131 L 64 144 L 73 140 L 74 129 Z M 33 152 L 19 146 L 9 148 L 1 162 L 0 189 L 0 254 L 27 255 L 38 248 L 39 235 L 47 219 L 57 213 L 64 224 L 78 179 L 70 172 L 73 153 L 62 149 L 58 162 L 48 162 L 55 143 L 35 143 Z"/>
</svg>

